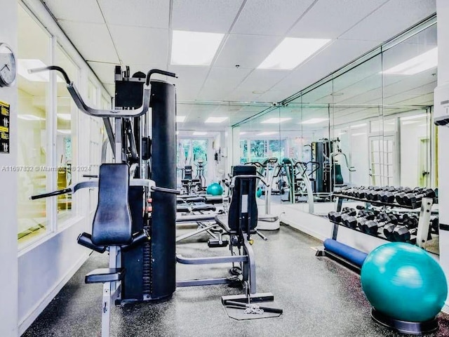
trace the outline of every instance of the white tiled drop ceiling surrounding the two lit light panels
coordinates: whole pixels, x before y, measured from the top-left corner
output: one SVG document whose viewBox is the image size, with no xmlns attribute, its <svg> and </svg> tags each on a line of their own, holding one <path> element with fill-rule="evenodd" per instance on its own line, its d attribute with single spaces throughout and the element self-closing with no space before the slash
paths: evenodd
<svg viewBox="0 0 449 337">
<path fill-rule="evenodd" d="M 178 100 L 267 103 L 283 100 L 313 84 L 431 15 L 436 8 L 435 0 L 173 0 L 171 8 L 170 1 L 160 0 L 43 2 L 109 92 L 113 92 L 110 84 L 114 83 L 114 65 L 121 61 L 131 66 L 131 73 L 167 67 L 176 72 L 179 79 L 169 80 L 177 86 Z M 226 36 L 210 67 L 172 66 L 171 29 Z M 284 37 L 333 41 L 294 70 L 258 70 Z M 362 73 L 359 69 L 358 76 Z M 337 82 L 340 90 L 346 90 L 344 81 Z M 391 82 L 391 90 L 401 86 L 396 82 Z M 419 88 L 411 83 L 406 87 Z M 340 100 L 353 94 L 362 98 L 360 88 L 357 92 L 347 89 L 351 92 L 344 93 Z M 423 88 L 422 94 L 427 95 L 427 90 Z M 215 105 L 189 111 L 227 113 L 234 119 L 243 108 L 232 112 Z"/>
</svg>

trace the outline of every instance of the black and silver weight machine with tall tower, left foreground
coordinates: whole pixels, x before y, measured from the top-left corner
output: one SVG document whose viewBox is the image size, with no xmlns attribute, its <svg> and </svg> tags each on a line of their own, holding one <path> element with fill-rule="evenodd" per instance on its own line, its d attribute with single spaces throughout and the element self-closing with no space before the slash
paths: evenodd
<svg viewBox="0 0 449 337">
<path fill-rule="evenodd" d="M 152 74 L 176 75 L 150 70 L 130 77 L 128 67 L 123 74 L 116 67 L 116 107 L 98 110 L 84 103 L 61 67 L 30 72 L 47 70 L 62 74 L 81 112 L 102 118 L 114 154 L 116 164 L 100 166 L 98 180 L 32 197 L 99 187 L 92 234 L 80 234 L 78 243 L 100 253 L 109 251 L 109 268 L 86 275 L 86 283 L 104 284 L 102 336 L 109 336 L 112 302 L 161 300 L 170 298 L 176 288 L 175 194 L 180 192 L 175 190 L 175 86 L 151 79 Z M 150 197 L 152 212 L 142 212 Z"/>
</svg>

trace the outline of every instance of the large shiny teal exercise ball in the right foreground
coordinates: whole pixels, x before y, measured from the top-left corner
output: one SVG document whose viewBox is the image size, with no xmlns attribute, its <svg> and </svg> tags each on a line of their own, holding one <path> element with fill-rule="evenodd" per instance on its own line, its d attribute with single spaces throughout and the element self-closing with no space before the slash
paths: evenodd
<svg viewBox="0 0 449 337">
<path fill-rule="evenodd" d="M 375 310 L 407 322 L 433 319 L 448 296 L 448 284 L 436 260 L 403 242 L 374 249 L 363 263 L 361 284 Z"/>
</svg>

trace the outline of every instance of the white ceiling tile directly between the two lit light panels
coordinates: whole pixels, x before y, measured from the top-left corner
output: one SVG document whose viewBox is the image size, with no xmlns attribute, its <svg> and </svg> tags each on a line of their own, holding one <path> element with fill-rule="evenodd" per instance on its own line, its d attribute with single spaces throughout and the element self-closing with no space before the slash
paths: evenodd
<svg viewBox="0 0 449 337">
<path fill-rule="evenodd" d="M 255 68 L 282 41 L 281 37 L 230 34 L 214 65 L 217 67 Z"/>
</svg>

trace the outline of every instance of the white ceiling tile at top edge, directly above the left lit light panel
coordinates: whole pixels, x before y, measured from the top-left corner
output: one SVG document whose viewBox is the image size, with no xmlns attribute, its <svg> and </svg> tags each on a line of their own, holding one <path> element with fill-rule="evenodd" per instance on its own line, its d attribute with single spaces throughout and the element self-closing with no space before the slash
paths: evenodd
<svg viewBox="0 0 449 337">
<path fill-rule="evenodd" d="M 166 1 L 168 3 L 168 1 Z M 173 0 L 172 27 L 192 32 L 227 33 L 242 0 Z"/>
</svg>

